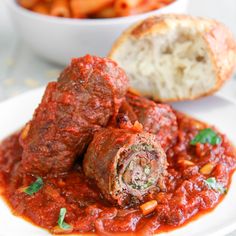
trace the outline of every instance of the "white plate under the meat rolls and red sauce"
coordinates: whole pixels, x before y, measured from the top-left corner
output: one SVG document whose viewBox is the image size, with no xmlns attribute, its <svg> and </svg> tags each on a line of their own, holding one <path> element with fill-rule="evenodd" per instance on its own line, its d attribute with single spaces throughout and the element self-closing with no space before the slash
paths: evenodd
<svg viewBox="0 0 236 236">
<path fill-rule="evenodd" d="M 42 97 L 44 89 L 25 93 L 0 104 L 0 140 L 27 122 Z M 214 124 L 236 144 L 236 104 L 220 97 L 174 104 L 198 119 Z M 236 175 L 223 202 L 211 213 L 185 227 L 166 233 L 168 236 L 225 235 L 236 229 Z M 47 231 L 31 225 L 9 211 L 0 200 L 0 236 L 49 235 Z M 164 235 L 164 234 L 161 234 Z"/>
</svg>

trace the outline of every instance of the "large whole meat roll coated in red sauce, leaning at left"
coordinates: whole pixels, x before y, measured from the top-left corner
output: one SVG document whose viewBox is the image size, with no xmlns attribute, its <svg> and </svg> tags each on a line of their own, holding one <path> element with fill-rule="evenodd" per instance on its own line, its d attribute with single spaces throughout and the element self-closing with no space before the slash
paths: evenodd
<svg viewBox="0 0 236 236">
<path fill-rule="evenodd" d="M 23 169 L 35 175 L 68 171 L 94 131 L 116 116 L 127 86 L 115 62 L 89 55 L 73 59 L 58 81 L 48 84 L 21 134 Z"/>
</svg>

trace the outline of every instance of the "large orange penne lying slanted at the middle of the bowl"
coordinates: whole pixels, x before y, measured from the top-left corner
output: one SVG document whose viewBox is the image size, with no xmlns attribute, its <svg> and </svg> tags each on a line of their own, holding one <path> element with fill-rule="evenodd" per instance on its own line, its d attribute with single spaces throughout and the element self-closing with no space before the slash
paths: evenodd
<svg viewBox="0 0 236 236">
<path fill-rule="evenodd" d="M 79 18 L 101 11 L 113 2 L 114 0 L 71 0 L 70 7 L 73 17 Z"/>
</svg>

